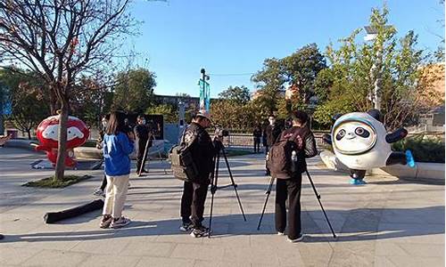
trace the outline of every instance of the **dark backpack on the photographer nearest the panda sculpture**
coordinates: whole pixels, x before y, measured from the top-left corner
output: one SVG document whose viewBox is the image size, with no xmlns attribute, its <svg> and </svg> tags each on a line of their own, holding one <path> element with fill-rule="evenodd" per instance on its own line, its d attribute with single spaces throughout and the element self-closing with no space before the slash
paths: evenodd
<svg viewBox="0 0 446 267">
<path fill-rule="evenodd" d="M 297 173 L 299 161 L 302 158 L 302 139 L 300 131 L 291 136 L 279 136 L 271 149 L 268 151 L 267 166 L 271 175 L 277 179 L 288 179 Z M 297 161 L 292 160 L 295 151 Z"/>
</svg>

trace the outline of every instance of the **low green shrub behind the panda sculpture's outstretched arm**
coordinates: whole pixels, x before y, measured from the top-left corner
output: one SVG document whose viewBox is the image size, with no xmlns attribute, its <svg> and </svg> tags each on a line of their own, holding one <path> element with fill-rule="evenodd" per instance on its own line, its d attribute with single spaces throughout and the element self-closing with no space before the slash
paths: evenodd
<svg viewBox="0 0 446 267">
<path fill-rule="evenodd" d="M 440 138 L 425 138 L 424 135 L 410 136 L 393 143 L 392 150 L 410 150 L 417 162 L 444 163 L 444 141 Z"/>
</svg>

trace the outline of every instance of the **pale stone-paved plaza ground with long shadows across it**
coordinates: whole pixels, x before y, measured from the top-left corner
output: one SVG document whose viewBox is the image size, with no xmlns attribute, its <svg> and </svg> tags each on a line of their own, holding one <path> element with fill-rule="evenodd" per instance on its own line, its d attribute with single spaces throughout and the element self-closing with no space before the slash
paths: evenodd
<svg viewBox="0 0 446 267">
<path fill-rule="evenodd" d="M 0 148 L 1 266 L 444 266 L 444 185 L 368 177 L 351 186 L 346 174 L 309 161 L 326 213 L 338 235 L 333 239 L 310 182 L 303 177 L 303 242 L 275 234 L 271 194 L 260 231 L 256 230 L 268 187 L 260 155 L 230 158 L 247 222 L 234 190 L 215 194 L 213 236 L 194 239 L 178 231 L 182 184 L 164 174 L 161 162 L 150 174 L 131 175 L 125 214 L 132 223 L 120 230 L 98 227 L 100 211 L 57 224 L 43 223 L 45 212 L 86 203 L 101 171 L 70 171 L 94 178 L 59 190 L 21 187 L 52 174 L 30 164 L 42 154 Z M 224 165 L 222 166 L 224 167 Z M 221 168 L 219 183 L 227 184 Z M 206 202 L 208 217 L 211 195 Z M 208 223 L 208 220 L 204 223 Z"/>
</svg>

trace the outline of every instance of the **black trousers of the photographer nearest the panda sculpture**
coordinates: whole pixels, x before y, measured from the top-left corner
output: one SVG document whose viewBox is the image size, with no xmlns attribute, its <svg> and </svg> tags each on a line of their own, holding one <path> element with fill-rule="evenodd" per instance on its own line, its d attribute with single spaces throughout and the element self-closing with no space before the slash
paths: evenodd
<svg viewBox="0 0 446 267">
<path fill-rule="evenodd" d="M 276 186 L 276 230 L 284 232 L 288 223 L 288 238 L 297 239 L 301 233 L 301 185 L 302 176 L 277 179 Z M 286 220 L 286 198 L 288 198 L 288 220 Z"/>
</svg>

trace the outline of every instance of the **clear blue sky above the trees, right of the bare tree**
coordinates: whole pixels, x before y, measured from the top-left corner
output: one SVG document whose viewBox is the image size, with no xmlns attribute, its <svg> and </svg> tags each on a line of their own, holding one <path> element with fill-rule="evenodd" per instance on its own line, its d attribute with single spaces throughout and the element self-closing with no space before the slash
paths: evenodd
<svg viewBox="0 0 446 267">
<path fill-rule="evenodd" d="M 389 22 L 403 36 L 418 35 L 418 48 L 435 51 L 444 36 L 439 0 L 388 0 Z M 128 40 L 135 61 L 156 74 L 156 94 L 199 95 L 200 69 L 210 75 L 211 97 L 245 85 L 267 58 L 283 58 L 305 44 L 330 42 L 368 25 L 372 0 L 135 0 L 130 12 L 143 21 Z"/>
</svg>

